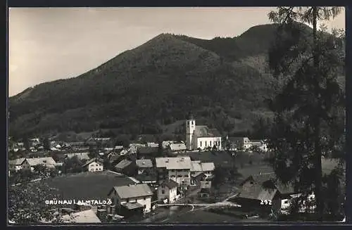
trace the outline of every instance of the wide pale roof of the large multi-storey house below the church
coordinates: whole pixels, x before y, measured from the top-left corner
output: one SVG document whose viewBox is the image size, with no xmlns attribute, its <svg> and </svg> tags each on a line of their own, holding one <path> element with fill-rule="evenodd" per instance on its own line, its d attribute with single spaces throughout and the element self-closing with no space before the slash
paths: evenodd
<svg viewBox="0 0 352 230">
<path fill-rule="evenodd" d="M 165 167 L 167 170 L 191 170 L 191 158 L 156 158 L 156 167 Z"/>
</svg>

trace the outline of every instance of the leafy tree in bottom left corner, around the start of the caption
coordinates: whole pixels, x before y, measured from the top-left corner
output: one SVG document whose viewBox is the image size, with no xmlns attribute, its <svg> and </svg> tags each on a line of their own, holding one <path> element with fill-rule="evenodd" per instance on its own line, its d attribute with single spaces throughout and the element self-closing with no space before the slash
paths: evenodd
<svg viewBox="0 0 352 230">
<path fill-rule="evenodd" d="M 58 206 L 47 205 L 46 200 L 59 196 L 47 184 L 33 182 L 8 187 L 8 219 L 16 224 L 38 224 L 43 221 L 61 222 L 55 217 Z"/>
</svg>

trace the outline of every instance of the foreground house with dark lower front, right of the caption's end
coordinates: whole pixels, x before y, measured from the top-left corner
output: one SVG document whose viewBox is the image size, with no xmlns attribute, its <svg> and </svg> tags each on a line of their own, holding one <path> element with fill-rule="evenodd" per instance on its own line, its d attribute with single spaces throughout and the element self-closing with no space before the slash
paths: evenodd
<svg viewBox="0 0 352 230">
<path fill-rule="evenodd" d="M 108 193 L 118 214 L 128 216 L 142 212 L 151 212 L 151 197 L 153 192 L 147 184 L 114 186 Z M 134 211 L 136 210 L 136 211 Z"/>
</svg>

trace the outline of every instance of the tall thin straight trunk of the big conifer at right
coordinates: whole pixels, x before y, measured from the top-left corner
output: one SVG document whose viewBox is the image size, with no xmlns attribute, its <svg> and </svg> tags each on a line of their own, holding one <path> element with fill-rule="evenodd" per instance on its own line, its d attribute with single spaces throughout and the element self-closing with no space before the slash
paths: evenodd
<svg viewBox="0 0 352 230">
<path fill-rule="evenodd" d="M 317 108 L 315 108 L 315 135 L 314 135 L 314 146 L 315 146 L 315 201 L 318 211 L 318 221 L 322 221 L 322 215 L 324 212 L 324 202 L 322 200 L 322 148 L 320 146 L 320 90 L 319 90 L 319 76 L 316 75 L 316 70 L 319 68 L 319 57 L 316 50 L 317 46 L 317 18 L 318 18 L 318 6 L 313 7 L 313 61 L 315 68 L 315 93 L 317 96 Z"/>
</svg>

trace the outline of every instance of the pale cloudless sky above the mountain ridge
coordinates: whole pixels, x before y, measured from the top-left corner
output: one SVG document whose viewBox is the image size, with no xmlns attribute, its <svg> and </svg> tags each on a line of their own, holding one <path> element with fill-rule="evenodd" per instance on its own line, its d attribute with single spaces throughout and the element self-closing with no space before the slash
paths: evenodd
<svg viewBox="0 0 352 230">
<path fill-rule="evenodd" d="M 236 37 L 270 23 L 272 7 L 10 8 L 8 94 L 77 77 L 161 33 Z M 326 23 L 345 28 L 344 11 Z"/>
</svg>

